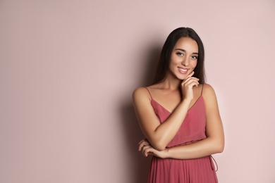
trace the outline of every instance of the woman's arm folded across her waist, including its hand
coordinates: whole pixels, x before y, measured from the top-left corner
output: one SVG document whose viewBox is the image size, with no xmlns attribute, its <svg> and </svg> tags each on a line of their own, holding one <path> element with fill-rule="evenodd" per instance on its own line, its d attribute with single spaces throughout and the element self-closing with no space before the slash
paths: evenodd
<svg viewBox="0 0 275 183">
<path fill-rule="evenodd" d="M 163 151 L 157 151 L 149 143 L 140 141 L 139 150 L 144 156 L 154 154 L 159 158 L 192 159 L 209 156 L 224 151 L 224 129 L 219 115 L 214 89 L 209 84 L 204 84 L 204 103 L 206 108 L 206 134 L 207 138 L 185 146 L 176 146 Z"/>
</svg>

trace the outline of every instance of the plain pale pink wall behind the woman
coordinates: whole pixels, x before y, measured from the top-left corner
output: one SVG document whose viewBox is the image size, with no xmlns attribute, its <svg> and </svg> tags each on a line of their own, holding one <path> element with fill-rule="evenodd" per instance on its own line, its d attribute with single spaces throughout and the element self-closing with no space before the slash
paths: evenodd
<svg viewBox="0 0 275 183">
<path fill-rule="evenodd" d="M 275 1 L 0 1 L 0 182 L 145 182 L 131 93 L 193 27 L 226 133 L 221 183 L 275 182 Z"/>
</svg>

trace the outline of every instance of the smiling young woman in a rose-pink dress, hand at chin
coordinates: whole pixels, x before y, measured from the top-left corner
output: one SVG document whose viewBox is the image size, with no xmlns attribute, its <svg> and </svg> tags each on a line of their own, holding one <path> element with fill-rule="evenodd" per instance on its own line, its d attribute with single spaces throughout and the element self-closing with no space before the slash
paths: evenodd
<svg viewBox="0 0 275 183">
<path fill-rule="evenodd" d="M 148 182 L 218 182 L 212 154 L 224 150 L 224 130 L 214 89 L 204 83 L 204 47 L 188 27 L 164 43 L 154 84 L 133 92 L 135 113 L 153 155 Z"/>
</svg>

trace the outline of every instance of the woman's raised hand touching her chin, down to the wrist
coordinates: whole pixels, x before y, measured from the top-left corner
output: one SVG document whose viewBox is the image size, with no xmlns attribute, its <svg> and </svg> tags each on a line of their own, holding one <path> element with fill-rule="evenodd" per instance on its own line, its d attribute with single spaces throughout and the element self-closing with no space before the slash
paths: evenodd
<svg viewBox="0 0 275 183">
<path fill-rule="evenodd" d="M 197 77 L 192 77 L 194 75 L 194 71 L 192 71 L 184 80 L 181 82 L 181 94 L 183 96 L 183 100 L 187 99 L 193 100 L 193 87 L 198 86 L 199 79 Z"/>
</svg>

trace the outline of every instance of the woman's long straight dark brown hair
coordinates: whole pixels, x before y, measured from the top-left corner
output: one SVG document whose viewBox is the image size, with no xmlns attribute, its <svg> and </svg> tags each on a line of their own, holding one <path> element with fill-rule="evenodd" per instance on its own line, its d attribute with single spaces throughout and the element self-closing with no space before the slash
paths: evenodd
<svg viewBox="0 0 275 183">
<path fill-rule="evenodd" d="M 173 47 L 176 45 L 176 42 L 178 42 L 178 39 L 180 39 L 181 37 L 190 37 L 191 39 L 194 39 L 195 42 L 197 42 L 197 46 L 199 48 L 199 56 L 197 58 L 197 65 L 194 69 L 195 74 L 193 76 L 199 78 L 200 83 L 204 84 L 204 46 L 199 35 L 195 32 L 195 30 L 189 27 L 179 27 L 176 30 L 173 30 L 167 37 L 161 50 L 159 63 L 157 65 L 157 71 L 154 75 L 153 84 L 162 82 L 166 78 L 167 71 L 169 70 L 169 62 Z"/>
</svg>

